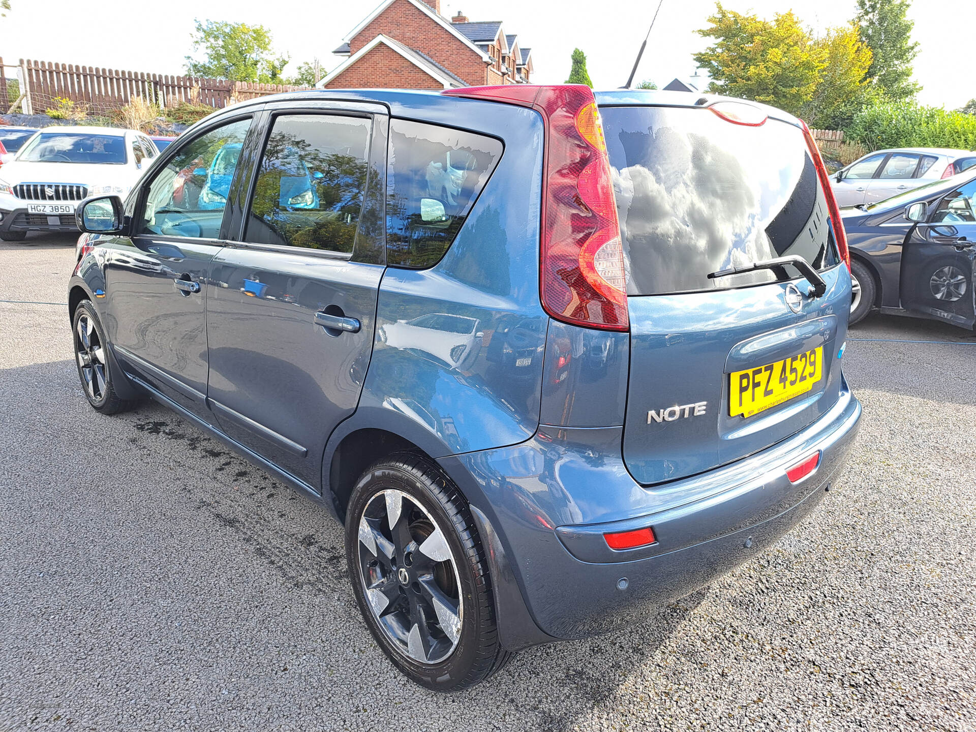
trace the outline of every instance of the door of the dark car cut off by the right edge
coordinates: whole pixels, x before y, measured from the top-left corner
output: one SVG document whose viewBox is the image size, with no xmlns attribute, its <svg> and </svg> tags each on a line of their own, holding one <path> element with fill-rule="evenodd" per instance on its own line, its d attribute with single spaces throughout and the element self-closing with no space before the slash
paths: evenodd
<svg viewBox="0 0 976 732">
<path fill-rule="evenodd" d="M 902 252 L 902 307 L 972 328 L 976 181 L 960 185 L 912 230 Z"/>
</svg>

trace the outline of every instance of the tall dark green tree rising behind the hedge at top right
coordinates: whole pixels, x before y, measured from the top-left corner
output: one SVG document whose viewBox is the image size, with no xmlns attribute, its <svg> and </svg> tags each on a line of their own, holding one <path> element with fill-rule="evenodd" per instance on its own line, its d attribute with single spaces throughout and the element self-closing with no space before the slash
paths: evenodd
<svg viewBox="0 0 976 732">
<path fill-rule="evenodd" d="M 861 37 L 872 52 L 868 77 L 891 100 L 915 97 L 921 89 L 912 80 L 918 44 L 912 41 L 915 22 L 906 17 L 909 0 L 857 0 Z"/>
</svg>

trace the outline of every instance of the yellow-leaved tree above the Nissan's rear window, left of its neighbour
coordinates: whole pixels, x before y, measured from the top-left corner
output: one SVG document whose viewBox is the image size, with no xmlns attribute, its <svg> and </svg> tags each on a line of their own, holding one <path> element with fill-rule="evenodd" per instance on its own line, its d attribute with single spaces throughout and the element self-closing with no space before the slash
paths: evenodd
<svg viewBox="0 0 976 732">
<path fill-rule="evenodd" d="M 793 11 L 772 21 L 715 4 L 711 26 L 698 31 L 715 42 L 692 58 L 709 71 L 709 91 L 765 102 L 798 114 L 813 99 L 827 54 Z"/>
</svg>

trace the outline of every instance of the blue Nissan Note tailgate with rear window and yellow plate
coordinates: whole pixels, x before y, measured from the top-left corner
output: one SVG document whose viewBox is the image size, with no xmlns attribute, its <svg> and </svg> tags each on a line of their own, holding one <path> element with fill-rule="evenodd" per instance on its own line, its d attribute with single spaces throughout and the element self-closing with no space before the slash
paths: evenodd
<svg viewBox="0 0 976 732">
<path fill-rule="evenodd" d="M 701 107 L 601 112 L 630 260 L 631 474 L 684 477 L 809 425 L 838 396 L 851 294 L 803 133 Z M 793 269 L 709 277 L 790 255 L 823 296 Z"/>
</svg>

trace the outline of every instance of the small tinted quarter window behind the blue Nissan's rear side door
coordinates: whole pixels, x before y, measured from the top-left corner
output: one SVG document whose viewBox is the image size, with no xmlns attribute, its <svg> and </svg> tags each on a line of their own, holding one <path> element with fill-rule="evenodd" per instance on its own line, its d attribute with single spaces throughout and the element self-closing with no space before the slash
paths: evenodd
<svg viewBox="0 0 976 732">
<path fill-rule="evenodd" d="M 502 143 L 422 122 L 390 120 L 386 264 L 437 264 L 502 156 Z"/>
</svg>

